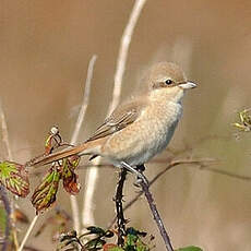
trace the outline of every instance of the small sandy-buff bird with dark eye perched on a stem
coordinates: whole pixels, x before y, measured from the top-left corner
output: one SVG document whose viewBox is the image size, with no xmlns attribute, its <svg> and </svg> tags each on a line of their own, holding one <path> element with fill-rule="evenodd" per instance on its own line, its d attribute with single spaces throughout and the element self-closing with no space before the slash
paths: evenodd
<svg viewBox="0 0 251 251">
<path fill-rule="evenodd" d="M 143 166 L 167 147 L 182 115 L 184 93 L 196 84 L 188 81 L 176 63 L 157 62 L 140 86 L 138 94 L 119 105 L 85 142 L 29 164 L 43 166 L 72 155 L 91 155 L 118 167 Z"/>
</svg>

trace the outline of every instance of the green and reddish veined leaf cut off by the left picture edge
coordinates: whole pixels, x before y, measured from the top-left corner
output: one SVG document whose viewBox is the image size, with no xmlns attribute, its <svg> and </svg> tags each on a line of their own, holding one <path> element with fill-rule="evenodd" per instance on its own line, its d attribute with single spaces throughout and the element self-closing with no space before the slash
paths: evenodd
<svg viewBox="0 0 251 251">
<path fill-rule="evenodd" d="M 29 193 L 28 175 L 25 167 L 13 162 L 0 163 L 0 183 L 19 196 Z"/>
</svg>

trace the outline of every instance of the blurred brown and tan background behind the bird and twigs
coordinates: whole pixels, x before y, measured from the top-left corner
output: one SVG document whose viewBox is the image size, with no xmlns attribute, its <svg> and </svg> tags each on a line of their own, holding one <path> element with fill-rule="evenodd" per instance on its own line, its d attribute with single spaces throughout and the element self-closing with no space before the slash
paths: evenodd
<svg viewBox="0 0 251 251">
<path fill-rule="evenodd" d="M 87 64 L 96 53 L 91 100 L 79 142 L 103 122 L 111 100 L 113 74 L 121 35 L 134 1 L 8 1 L 0 8 L 0 98 L 7 116 L 14 159 L 25 163 L 41 153 L 45 136 L 58 124 L 70 141 L 82 103 Z M 216 158 L 215 168 L 251 176 L 251 133 L 236 139 L 237 111 L 250 108 L 251 2 L 248 0 L 147 1 L 132 37 L 122 97 L 127 97 L 152 63 L 179 63 L 199 87 L 184 99 L 182 121 L 170 143 L 174 150 L 189 145 L 182 158 Z M 195 144 L 202 138 L 215 139 Z M 157 158 L 165 158 L 163 153 Z M 4 158 L 4 151 L 1 151 Z M 151 179 L 166 164 L 148 164 Z M 44 174 L 45 170 L 40 169 Z M 33 174 L 33 171 L 32 171 Z M 82 207 L 86 170 L 80 170 Z M 32 188 L 41 176 L 33 176 Z M 95 190 L 96 224 L 106 227 L 113 217 L 118 171 L 99 170 Z M 128 179 L 124 200 L 138 189 Z M 153 187 L 160 215 L 175 247 L 195 244 L 203 250 L 251 250 L 250 182 L 178 166 Z M 29 219 L 29 198 L 19 201 Z M 71 215 L 68 194 L 60 188 L 57 205 Z M 36 229 L 53 214 L 45 213 Z M 155 250 L 165 250 L 144 198 L 125 216 L 131 225 L 156 237 Z M 27 225 L 19 225 L 19 236 Z M 27 244 L 53 250 L 48 228 L 34 232 Z"/>
</svg>

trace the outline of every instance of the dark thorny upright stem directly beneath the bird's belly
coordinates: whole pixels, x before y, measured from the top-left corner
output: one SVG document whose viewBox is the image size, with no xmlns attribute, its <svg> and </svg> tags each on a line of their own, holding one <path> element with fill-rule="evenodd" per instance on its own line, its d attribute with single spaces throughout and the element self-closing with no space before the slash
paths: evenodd
<svg viewBox="0 0 251 251">
<path fill-rule="evenodd" d="M 119 182 L 116 189 L 115 195 L 115 204 L 117 212 L 117 224 L 118 224 L 118 246 L 121 247 L 123 244 L 123 236 L 125 236 L 125 218 L 123 215 L 123 184 L 127 178 L 127 169 L 122 168 L 119 172 Z"/>
</svg>

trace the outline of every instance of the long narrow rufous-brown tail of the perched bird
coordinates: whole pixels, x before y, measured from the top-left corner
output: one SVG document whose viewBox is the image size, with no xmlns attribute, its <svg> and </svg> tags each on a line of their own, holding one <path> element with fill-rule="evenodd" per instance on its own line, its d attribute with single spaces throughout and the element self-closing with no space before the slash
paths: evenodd
<svg viewBox="0 0 251 251">
<path fill-rule="evenodd" d="M 61 152 L 49 154 L 47 156 L 36 157 L 28 163 L 26 163 L 26 166 L 44 166 L 53 162 L 58 162 L 62 158 L 70 157 L 72 155 L 79 154 L 79 155 L 93 155 L 97 154 L 95 148 L 97 148 L 98 145 L 95 144 L 95 142 L 86 142 L 82 145 L 74 146 L 72 148 L 63 150 Z"/>
</svg>

